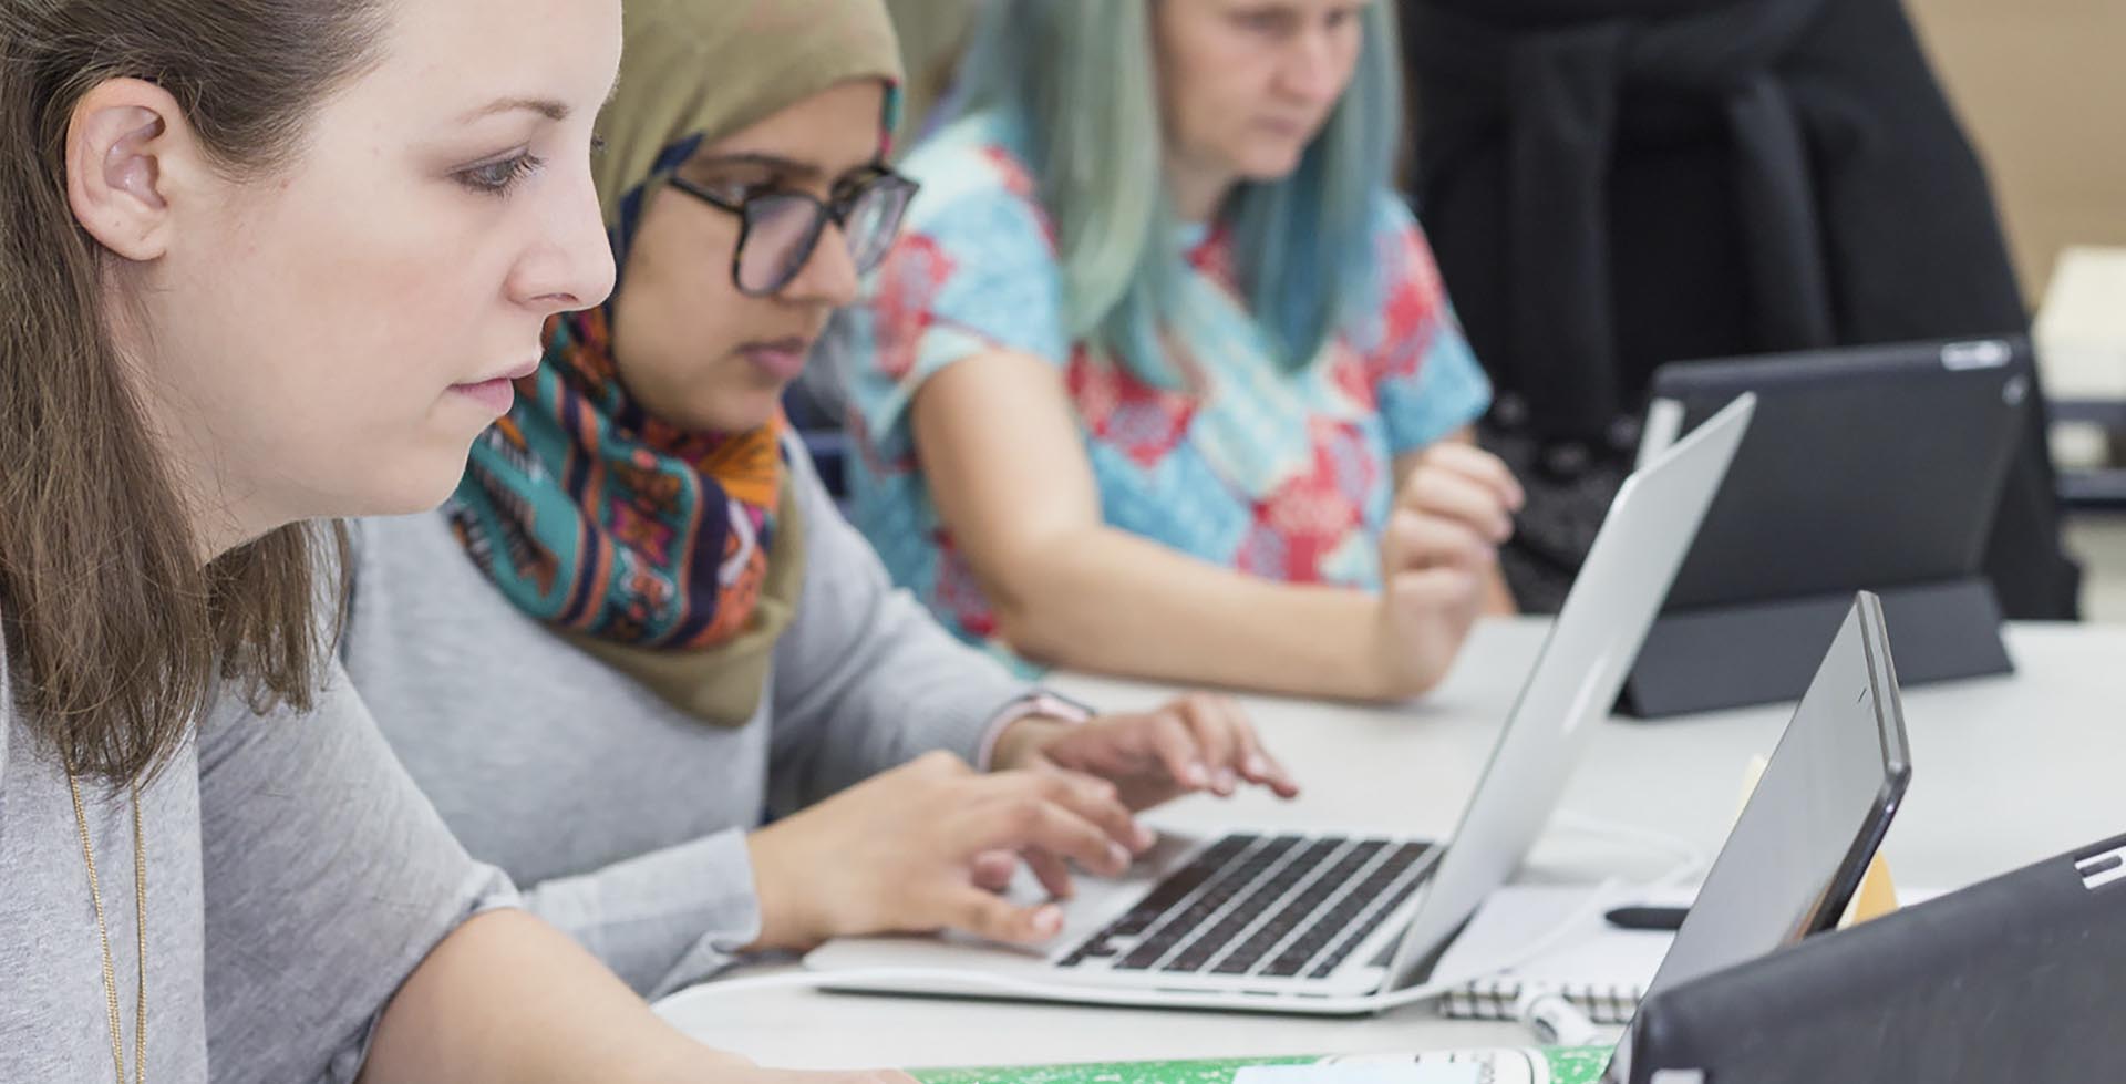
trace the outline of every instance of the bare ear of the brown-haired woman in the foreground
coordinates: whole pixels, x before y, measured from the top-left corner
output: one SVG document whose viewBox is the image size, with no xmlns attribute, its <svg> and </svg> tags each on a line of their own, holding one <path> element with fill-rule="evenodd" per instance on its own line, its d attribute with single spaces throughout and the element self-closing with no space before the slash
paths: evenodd
<svg viewBox="0 0 2126 1084">
<path fill-rule="evenodd" d="M 196 142 L 170 91 L 140 79 L 98 83 L 66 125 L 66 202 L 104 249 L 149 261 L 170 240 L 170 187 Z"/>
</svg>

